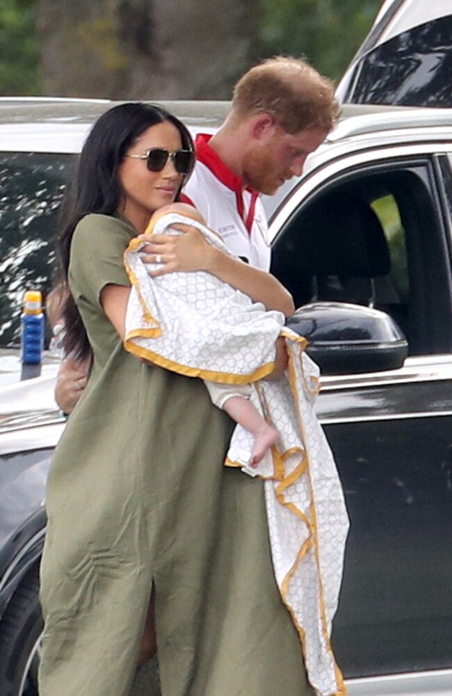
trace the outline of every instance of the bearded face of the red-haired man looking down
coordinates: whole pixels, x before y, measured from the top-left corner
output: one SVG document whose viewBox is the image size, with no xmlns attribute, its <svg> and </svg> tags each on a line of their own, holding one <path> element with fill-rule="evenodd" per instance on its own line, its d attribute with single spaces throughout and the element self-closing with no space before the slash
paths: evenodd
<svg viewBox="0 0 452 696">
<path fill-rule="evenodd" d="M 300 176 L 305 159 L 320 145 L 327 132 L 306 128 L 299 133 L 286 133 L 274 125 L 267 137 L 250 143 L 243 163 L 243 179 L 252 189 L 273 196 L 284 181 Z"/>
</svg>

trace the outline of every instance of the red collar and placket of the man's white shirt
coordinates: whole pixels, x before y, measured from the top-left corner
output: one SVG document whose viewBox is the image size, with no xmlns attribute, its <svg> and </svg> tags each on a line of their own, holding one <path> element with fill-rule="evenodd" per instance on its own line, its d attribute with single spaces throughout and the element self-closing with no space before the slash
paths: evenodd
<svg viewBox="0 0 452 696">
<path fill-rule="evenodd" d="M 217 153 L 215 150 L 211 148 L 209 145 L 209 140 L 211 139 L 211 135 L 208 135 L 207 133 L 199 133 L 196 136 L 196 141 L 195 141 L 195 148 L 196 148 L 196 159 L 202 164 L 205 164 L 211 171 L 211 173 L 216 176 L 218 180 L 222 184 L 225 184 L 228 189 L 231 189 L 234 191 L 236 194 L 236 204 L 237 204 L 237 211 L 239 212 L 239 215 L 241 216 L 241 219 L 245 223 L 245 227 L 248 230 L 248 234 L 251 233 L 251 228 L 252 228 L 252 223 L 255 219 L 255 209 L 256 209 L 256 201 L 257 197 L 259 196 L 259 193 L 257 191 L 254 191 L 253 189 L 250 189 L 249 187 L 245 187 L 243 184 L 243 179 L 242 177 L 237 176 L 234 174 L 229 167 L 225 165 L 222 159 L 218 157 Z M 250 202 L 250 209 L 248 210 L 248 215 L 244 216 L 244 205 L 243 205 L 243 191 L 249 191 L 251 193 L 251 202 Z"/>
</svg>

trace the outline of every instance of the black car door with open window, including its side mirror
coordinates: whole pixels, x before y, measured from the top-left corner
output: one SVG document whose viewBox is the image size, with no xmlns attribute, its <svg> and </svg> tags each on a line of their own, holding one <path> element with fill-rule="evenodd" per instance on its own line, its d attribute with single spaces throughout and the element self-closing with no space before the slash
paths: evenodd
<svg viewBox="0 0 452 696">
<path fill-rule="evenodd" d="M 346 677 L 452 667 L 449 165 L 435 145 L 343 157 L 273 226 L 273 271 L 298 305 L 371 302 L 410 343 L 400 370 L 325 377 L 318 398 L 351 522 L 333 631 Z"/>
</svg>

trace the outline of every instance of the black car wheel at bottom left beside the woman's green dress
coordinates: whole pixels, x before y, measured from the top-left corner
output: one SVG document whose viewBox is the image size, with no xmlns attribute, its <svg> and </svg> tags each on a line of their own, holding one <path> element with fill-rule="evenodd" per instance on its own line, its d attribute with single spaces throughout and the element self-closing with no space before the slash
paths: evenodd
<svg viewBox="0 0 452 696">
<path fill-rule="evenodd" d="M 1 696 L 38 696 L 42 613 L 38 567 L 25 576 L 0 622 Z"/>
</svg>

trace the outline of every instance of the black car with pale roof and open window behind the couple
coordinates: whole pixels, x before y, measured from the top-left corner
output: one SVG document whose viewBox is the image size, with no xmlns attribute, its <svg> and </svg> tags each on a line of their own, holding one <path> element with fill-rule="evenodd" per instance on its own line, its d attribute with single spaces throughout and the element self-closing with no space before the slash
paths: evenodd
<svg viewBox="0 0 452 696">
<path fill-rule="evenodd" d="M 22 374 L 74 157 L 111 102 L 0 100 L 0 694 L 35 696 L 58 356 Z M 166 104 L 218 127 L 227 104 Z M 273 272 L 323 367 L 317 413 L 351 528 L 333 643 L 351 696 L 452 693 L 452 111 L 350 106 L 264 204 Z M 405 340 L 406 338 L 406 340 Z M 406 355 L 406 351 L 408 355 Z"/>
</svg>

